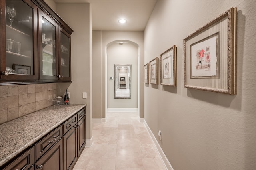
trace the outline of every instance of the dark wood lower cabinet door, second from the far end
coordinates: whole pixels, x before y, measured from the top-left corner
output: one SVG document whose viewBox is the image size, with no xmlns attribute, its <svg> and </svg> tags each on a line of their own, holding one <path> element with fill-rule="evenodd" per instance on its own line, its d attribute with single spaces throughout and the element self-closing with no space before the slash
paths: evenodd
<svg viewBox="0 0 256 170">
<path fill-rule="evenodd" d="M 77 159 L 77 126 L 72 127 L 64 136 L 64 170 L 72 170 Z"/>
</svg>

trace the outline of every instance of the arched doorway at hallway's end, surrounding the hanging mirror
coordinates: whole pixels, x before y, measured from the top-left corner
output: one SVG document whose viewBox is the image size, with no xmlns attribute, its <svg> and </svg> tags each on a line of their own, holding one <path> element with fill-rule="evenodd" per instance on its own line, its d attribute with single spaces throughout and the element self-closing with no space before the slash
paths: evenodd
<svg viewBox="0 0 256 170">
<path fill-rule="evenodd" d="M 122 43 L 121 43 L 122 42 Z M 132 64 L 131 99 L 114 99 L 114 64 Z M 106 112 L 140 111 L 140 47 L 128 40 L 116 40 L 105 47 Z M 111 79 L 113 77 L 113 79 Z"/>
</svg>

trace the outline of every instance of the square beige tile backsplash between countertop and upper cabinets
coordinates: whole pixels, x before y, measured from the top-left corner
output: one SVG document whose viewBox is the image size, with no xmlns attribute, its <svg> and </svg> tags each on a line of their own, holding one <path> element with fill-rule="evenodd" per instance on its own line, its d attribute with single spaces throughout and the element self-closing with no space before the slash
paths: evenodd
<svg viewBox="0 0 256 170">
<path fill-rule="evenodd" d="M 53 105 L 56 83 L 0 86 L 0 124 Z"/>
</svg>

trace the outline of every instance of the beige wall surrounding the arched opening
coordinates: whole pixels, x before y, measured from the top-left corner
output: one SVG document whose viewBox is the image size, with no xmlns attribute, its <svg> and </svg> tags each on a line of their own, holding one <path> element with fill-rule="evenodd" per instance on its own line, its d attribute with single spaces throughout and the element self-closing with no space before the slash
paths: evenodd
<svg viewBox="0 0 256 170">
<path fill-rule="evenodd" d="M 92 43 L 93 43 L 93 68 L 92 72 L 94 74 L 95 66 L 101 65 L 101 74 L 100 76 L 101 80 L 98 80 L 99 77 L 93 77 L 92 80 L 92 87 L 93 91 L 95 92 L 98 87 L 99 81 L 101 81 L 101 89 L 96 91 L 96 93 L 93 93 L 93 100 L 95 101 L 101 101 L 101 105 L 93 105 L 93 118 L 105 118 L 106 115 L 106 95 L 105 95 L 105 82 L 106 82 L 106 75 L 105 75 L 105 58 L 106 58 L 106 47 L 109 45 L 109 43 L 117 41 L 117 40 L 126 40 L 130 42 L 134 42 L 139 46 L 140 51 L 139 53 L 139 59 L 138 59 L 138 65 L 142 65 L 143 62 L 143 53 L 144 53 L 144 43 L 143 43 L 143 32 L 126 32 L 126 31 L 93 31 L 92 34 Z M 95 52 L 96 51 L 96 52 Z M 97 72 L 98 73 L 98 72 Z M 140 75 L 143 75 L 143 66 L 140 67 L 139 71 Z M 140 101 L 140 106 L 138 106 L 138 109 L 140 110 L 140 117 L 143 117 L 143 76 L 140 76 L 140 95 L 138 100 Z M 100 109 L 98 107 L 101 107 Z M 101 111 L 101 113 L 99 113 Z"/>
</svg>

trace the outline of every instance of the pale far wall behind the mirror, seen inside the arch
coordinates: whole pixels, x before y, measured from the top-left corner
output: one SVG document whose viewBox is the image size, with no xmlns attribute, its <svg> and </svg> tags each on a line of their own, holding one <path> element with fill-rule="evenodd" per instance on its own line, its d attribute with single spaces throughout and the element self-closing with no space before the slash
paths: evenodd
<svg viewBox="0 0 256 170">
<path fill-rule="evenodd" d="M 112 45 L 108 46 L 107 55 L 107 108 L 138 108 L 138 46 L 132 43 L 123 43 L 123 45 L 119 45 L 119 43 L 113 43 Z M 132 65 L 131 99 L 114 99 L 115 64 Z M 126 77 L 127 70 L 123 75 L 125 75 L 123 77 Z M 110 80 L 110 76 L 114 77 L 114 79 Z M 120 83 L 122 83 L 122 81 Z M 126 83 L 126 81 L 124 83 Z"/>
</svg>

